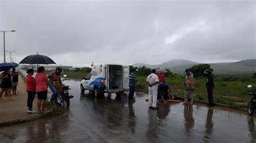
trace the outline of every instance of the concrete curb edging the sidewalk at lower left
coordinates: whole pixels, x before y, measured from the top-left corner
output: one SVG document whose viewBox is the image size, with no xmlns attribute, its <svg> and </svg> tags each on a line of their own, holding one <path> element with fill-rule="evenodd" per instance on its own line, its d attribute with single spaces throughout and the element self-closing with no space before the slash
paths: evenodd
<svg viewBox="0 0 256 143">
<path fill-rule="evenodd" d="M 19 123 L 26 123 L 29 121 L 41 119 L 41 118 L 44 118 L 45 116 L 49 115 L 50 112 L 51 112 L 51 110 L 46 111 L 45 113 L 42 113 L 42 114 L 35 113 L 37 115 L 31 116 L 31 117 L 24 117 L 24 118 L 18 118 L 18 119 L 14 119 L 14 120 L 0 121 L 0 127 L 10 126 L 10 125 L 19 124 Z"/>
</svg>

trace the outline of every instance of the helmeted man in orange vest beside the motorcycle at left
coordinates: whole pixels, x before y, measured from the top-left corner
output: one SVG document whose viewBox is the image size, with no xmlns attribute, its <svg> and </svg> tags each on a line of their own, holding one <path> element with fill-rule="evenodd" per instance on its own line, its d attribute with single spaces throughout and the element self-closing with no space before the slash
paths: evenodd
<svg viewBox="0 0 256 143">
<path fill-rule="evenodd" d="M 63 71 L 62 68 L 56 67 L 54 71 L 48 74 L 48 78 L 50 81 L 49 87 L 52 91 L 50 102 L 51 103 L 54 102 L 57 105 L 60 105 L 58 103 L 57 97 L 58 97 L 58 89 L 60 88 L 60 84 L 62 84 L 62 81 L 60 80 L 60 74 L 62 73 L 62 71 Z"/>
</svg>

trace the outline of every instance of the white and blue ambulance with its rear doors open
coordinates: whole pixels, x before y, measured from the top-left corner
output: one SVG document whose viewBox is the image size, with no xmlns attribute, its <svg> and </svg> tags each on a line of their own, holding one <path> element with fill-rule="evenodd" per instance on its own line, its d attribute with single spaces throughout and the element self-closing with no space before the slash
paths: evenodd
<svg viewBox="0 0 256 143">
<path fill-rule="evenodd" d="M 129 66 L 118 64 L 91 65 L 89 75 L 83 77 L 80 91 L 94 93 L 95 96 L 103 96 L 104 93 L 115 93 L 120 96 L 124 90 L 129 89 Z"/>
</svg>

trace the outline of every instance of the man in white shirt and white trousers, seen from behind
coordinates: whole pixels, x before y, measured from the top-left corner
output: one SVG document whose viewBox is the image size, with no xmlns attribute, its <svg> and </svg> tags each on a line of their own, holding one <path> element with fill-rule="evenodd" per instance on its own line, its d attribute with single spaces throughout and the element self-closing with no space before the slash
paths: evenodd
<svg viewBox="0 0 256 143">
<path fill-rule="evenodd" d="M 156 75 L 156 69 L 152 69 L 152 74 L 147 76 L 147 85 L 149 85 L 149 108 L 158 109 L 157 108 L 157 89 L 159 79 Z"/>
</svg>

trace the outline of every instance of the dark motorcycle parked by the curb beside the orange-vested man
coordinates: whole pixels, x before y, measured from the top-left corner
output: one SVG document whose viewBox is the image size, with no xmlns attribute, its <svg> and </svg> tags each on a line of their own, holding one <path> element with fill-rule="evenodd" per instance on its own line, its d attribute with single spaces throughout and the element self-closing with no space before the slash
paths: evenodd
<svg viewBox="0 0 256 143">
<path fill-rule="evenodd" d="M 66 75 L 64 75 L 63 77 L 66 77 Z M 62 84 L 60 86 L 60 88 L 58 89 L 58 100 L 60 101 L 60 104 L 64 103 L 66 104 L 66 107 L 69 107 L 70 105 L 70 98 L 73 98 L 72 95 L 69 95 L 69 86 L 66 86 L 63 84 L 63 81 L 65 81 L 66 79 L 62 80 Z"/>
</svg>

